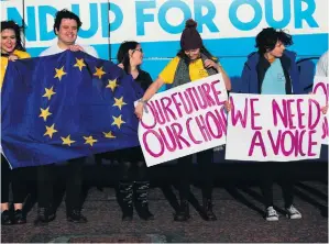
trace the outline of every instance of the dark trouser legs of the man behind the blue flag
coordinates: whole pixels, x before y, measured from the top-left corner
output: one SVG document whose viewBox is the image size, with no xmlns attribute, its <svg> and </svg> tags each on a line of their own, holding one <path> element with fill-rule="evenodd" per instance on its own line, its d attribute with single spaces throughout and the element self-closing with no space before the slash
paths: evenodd
<svg viewBox="0 0 329 244">
<path fill-rule="evenodd" d="M 80 209 L 83 167 L 85 157 L 68 160 L 65 166 L 66 209 Z M 37 202 L 40 208 L 48 208 L 54 203 L 55 165 L 37 167 Z"/>
</svg>

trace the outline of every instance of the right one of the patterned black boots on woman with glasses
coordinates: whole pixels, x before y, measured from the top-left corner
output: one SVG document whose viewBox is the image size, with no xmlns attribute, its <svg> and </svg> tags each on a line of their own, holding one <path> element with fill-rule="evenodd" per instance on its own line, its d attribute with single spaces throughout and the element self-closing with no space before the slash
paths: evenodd
<svg viewBox="0 0 329 244">
<path fill-rule="evenodd" d="M 134 184 L 135 209 L 143 220 L 154 220 L 154 215 L 149 210 L 149 188 L 150 181 L 135 181 Z"/>
</svg>

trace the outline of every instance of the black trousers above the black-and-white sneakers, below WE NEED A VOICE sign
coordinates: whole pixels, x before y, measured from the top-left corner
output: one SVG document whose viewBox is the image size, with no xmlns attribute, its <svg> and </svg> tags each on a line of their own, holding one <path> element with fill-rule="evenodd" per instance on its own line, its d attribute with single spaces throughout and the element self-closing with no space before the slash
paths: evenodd
<svg viewBox="0 0 329 244">
<path fill-rule="evenodd" d="M 261 164 L 261 190 L 264 198 L 264 206 L 273 206 L 273 184 L 278 179 L 282 187 L 285 208 L 294 202 L 294 163 L 264 162 Z"/>
</svg>

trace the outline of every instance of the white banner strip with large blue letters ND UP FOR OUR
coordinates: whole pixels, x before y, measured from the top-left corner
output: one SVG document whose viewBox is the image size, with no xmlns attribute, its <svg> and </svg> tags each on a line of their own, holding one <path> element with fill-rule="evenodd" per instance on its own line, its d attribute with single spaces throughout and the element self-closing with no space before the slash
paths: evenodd
<svg viewBox="0 0 329 244">
<path fill-rule="evenodd" d="M 275 2 L 275 4 L 274 4 Z M 55 12 L 67 8 L 80 15 L 81 44 L 177 41 L 185 20 L 194 18 L 205 40 L 251 37 L 263 27 L 290 34 L 328 33 L 323 0 L 40 0 L 1 1 L 1 19 L 24 16 L 26 46 L 50 46 Z"/>
</svg>

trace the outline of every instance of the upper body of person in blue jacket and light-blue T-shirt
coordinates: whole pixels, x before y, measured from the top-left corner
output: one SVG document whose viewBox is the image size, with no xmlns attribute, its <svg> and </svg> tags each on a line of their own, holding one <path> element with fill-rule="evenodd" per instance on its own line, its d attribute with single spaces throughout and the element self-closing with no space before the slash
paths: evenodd
<svg viewBox="0 0 329 244">
<path fill-rule="evenodd" d="M 306 93 L 299 80 L 297 54 L 286 49 L 293 44 L 289 34 L 273 27 L 264 29 L 256 36 L 257 52 L 248 56 L 241 85 L 235 92 L 301 95 Z M 274 79 L 272 79 L 274 77 Z"/>
</svg>

